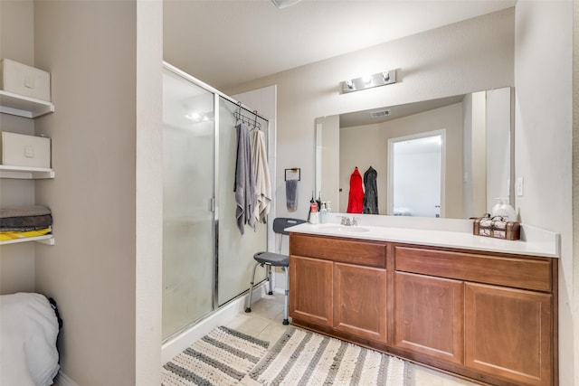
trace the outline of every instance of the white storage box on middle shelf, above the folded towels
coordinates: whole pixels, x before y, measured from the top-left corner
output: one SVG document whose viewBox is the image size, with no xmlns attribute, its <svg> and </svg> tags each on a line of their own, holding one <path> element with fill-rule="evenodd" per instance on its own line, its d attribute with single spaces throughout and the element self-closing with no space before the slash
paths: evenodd
<svg viewBox="0 0 579 386">
<path fill-rule="evenodd" d="M 3 131 L 2 164 L 51 167 L 51 139 Z"/>
</svg>

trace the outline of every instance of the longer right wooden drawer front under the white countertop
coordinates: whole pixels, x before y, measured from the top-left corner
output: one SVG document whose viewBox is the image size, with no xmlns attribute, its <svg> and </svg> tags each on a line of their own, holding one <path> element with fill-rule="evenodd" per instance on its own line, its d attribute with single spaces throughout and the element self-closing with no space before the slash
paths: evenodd
<svg viewBox="0 0 579 386">
<path fill-rule="evenodd" d="M 396 270 L 441 278 L 551 292 L 552 268 L 548 259 L 487 256 L 394 246 Z"/>
</svg>

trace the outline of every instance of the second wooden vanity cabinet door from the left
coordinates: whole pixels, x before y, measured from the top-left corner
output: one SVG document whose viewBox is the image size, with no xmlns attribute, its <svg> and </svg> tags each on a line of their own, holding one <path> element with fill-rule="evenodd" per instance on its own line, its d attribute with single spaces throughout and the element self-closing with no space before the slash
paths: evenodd
<svg viewBox="0 0 579 386">
<path fill-rule="evenodd" d="M 334 263 L 334 327 L 386 343 L 386 270 Z"/>
</svg>

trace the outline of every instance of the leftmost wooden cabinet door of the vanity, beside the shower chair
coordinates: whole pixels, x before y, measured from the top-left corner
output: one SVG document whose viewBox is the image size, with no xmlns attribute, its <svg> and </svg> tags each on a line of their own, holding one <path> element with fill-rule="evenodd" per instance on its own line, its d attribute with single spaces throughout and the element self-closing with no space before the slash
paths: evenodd
<svg viewBox="0 0 579 386">
<path fill-rule="evenodd" d="M 289 256 L 289 315 L 331 327 L 332 261 Z"/>
</svg>

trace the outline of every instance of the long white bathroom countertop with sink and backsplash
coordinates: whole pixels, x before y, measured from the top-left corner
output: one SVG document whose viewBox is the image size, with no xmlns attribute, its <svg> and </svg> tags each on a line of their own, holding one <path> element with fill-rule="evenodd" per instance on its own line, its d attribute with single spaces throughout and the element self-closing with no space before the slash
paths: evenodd
<svg viewBox="0 0 579 386">
<path fill-rule="evenodd" d="M 403 242 L 436 247 L 485 250 L 519 255 L 559 257 L 559 235 L 535 227 L 522 225 L 521 240 L 500 240 L 472 234 L 471 220 L 408 218 L 396 220 L 394 216 L 357 215 L 357 226 L 340 225 L 342 213 L 332 213 L 324 224 L 303 223 L 287 228 L 295 233 L 346 237 L 360 240 Z M 349 215 L 351 216 L 351 215 Z M 384 217 L 382 221 L 377 219 Z M 394 217 L 394 219 L 393 219 Z M 366 220 L 366 221 L 365 221 Z M 366 223 L 368 223 L 366 225 Z M 469 231 L 467 231 L 469 230 Z"/>
</svg>

